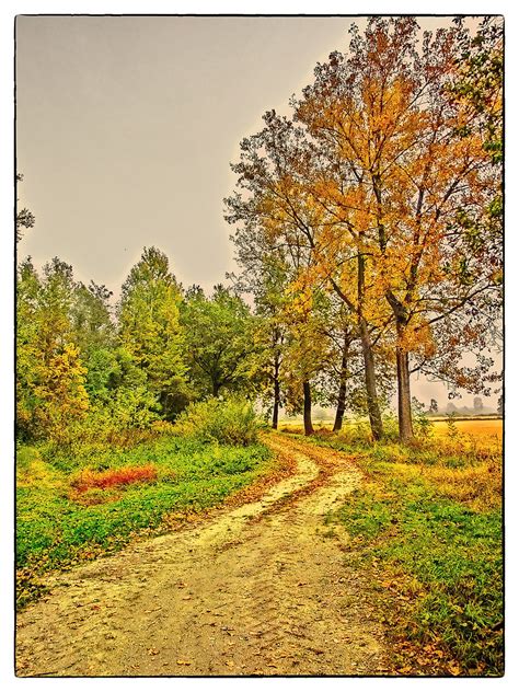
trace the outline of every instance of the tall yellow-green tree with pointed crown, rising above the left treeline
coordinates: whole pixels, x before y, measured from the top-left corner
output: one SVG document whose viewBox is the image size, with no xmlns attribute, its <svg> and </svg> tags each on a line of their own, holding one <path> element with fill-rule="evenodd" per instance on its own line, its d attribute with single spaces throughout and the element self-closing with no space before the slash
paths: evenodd
<svg viewBox="0 0 519 692">
<path fill-rule="evenodd" d="M 164 418 L 173 419 L 191 399 L 184 334 L 180 322 L 181 288 L 164 253 L 145 247 L 123 285 L 118 304 L 120 342 L 146 373 Z"/>
</svg>

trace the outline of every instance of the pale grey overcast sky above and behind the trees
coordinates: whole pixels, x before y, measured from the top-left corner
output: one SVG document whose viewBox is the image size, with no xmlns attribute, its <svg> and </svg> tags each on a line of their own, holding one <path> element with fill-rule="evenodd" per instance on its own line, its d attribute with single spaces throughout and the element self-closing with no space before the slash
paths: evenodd
<svg viewBox="0 0 519 692">
<path fill-rule="evenodd" d="M 240 140 L 265 111 L 287 108 L 318 61 L 346 49 L 350 23 L 20 16 L 19 197 L 36 217 L 20 258 L 42 266 L 57 255 L 117 295 L 142 247 L 157 245 L 184 286 L 210 290 L 234 268 L 222 198 Z M 438 384 L 415 390 L 446 400 Z"/>
</svg>

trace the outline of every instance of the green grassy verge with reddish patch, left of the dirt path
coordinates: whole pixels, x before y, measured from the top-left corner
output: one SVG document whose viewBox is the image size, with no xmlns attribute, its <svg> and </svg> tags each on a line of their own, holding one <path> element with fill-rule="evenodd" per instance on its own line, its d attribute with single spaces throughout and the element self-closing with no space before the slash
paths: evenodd
<svg viewBox="0 0 519 692">
<path fill-rule="evenodd" d="M 159 533 L 274 471 L 263 445 L 231 447 L 174 436 L 131 449 L 18 452 L 18 603 L 45 590 L 43 576 Z"/>
</svg>

